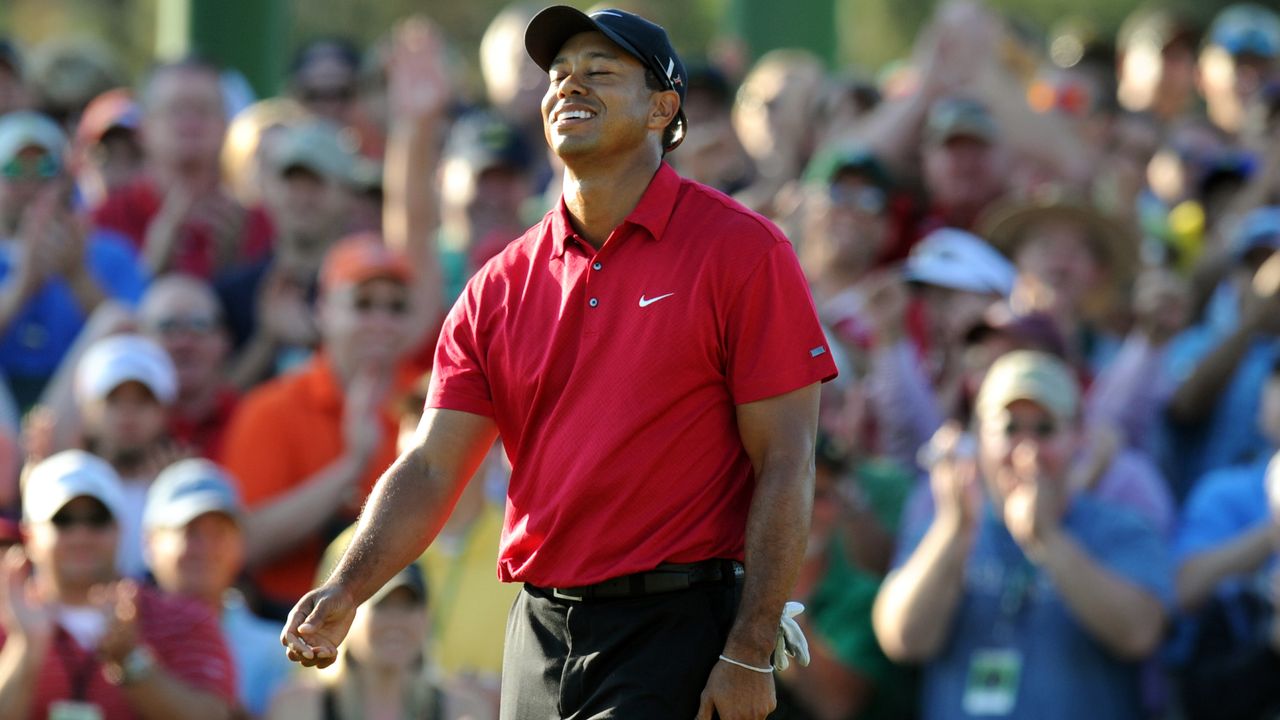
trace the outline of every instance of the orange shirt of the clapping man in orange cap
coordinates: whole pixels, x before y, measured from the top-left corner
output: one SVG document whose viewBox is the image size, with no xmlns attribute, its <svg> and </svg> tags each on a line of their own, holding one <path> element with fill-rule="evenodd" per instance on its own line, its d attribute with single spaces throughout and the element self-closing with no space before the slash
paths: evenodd
<svg viewBox="0 0 1280 720">
<path fill-rule="evenodd" d="M 410 368 L 401 368 L 396 387 L 407 388 L 413 378 Z M 268 600 L 292 605 L 311 589 L 325 546 L 355 520 L 374 483 L 396 460 L 390 400 L 380 418 L 381 446 L 360 480 L 361 492 L 325 530 L 252 574 Z M 223 464 L 238 479 L 244 503 L 255 509 L 279 500 L 337 460 L 343 450 L 342 413 L 343 389 L 323 354 L 246 395 L 223 438 Z"/>
</svg>

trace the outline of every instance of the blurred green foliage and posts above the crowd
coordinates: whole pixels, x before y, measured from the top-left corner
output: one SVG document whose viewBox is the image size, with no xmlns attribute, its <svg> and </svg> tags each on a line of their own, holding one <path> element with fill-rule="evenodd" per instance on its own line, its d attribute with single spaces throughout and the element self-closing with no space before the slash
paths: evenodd
<svg viewBox="0 0 1280 720">
<path fill-rule="evenodd" d="M 589 8 L 594 3 L 567 0 Z M 248 72 L 260 92 L 274 92 L 288 58 L 303 41 L 347 36 L 370 46 L 398 18 L 425 14 L 454 42 L 461 72 L 475 85 L 476 47 L 489 19 L 508 0 L 0 0 L 0 33 L 26 47 L 49 40 L 110 47 L 137 77 L 156 56 L 200 47 Z M 1046 42 L 1055 32 L 1111 41 L 1138 0 L 988 0 L 1021 33 Z M 803 45 L 833 68 L 876 72 L 910 53 L 936 0 L 617 0 L 662 22 L 689 58 L 713 55 L 746 65 L 767 50 Z M 1166 0 L 1204 23 L 1224 0 Z M 252 65 L 252 67 L 244 67 Z M 735 69 L 735 68 L 731 68 Z"/>
</svg>

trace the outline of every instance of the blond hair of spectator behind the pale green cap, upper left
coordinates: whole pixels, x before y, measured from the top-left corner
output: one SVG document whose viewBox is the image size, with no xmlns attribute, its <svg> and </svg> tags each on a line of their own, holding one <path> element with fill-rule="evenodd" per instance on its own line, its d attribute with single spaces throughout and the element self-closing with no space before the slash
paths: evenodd
<svg viewBox="0 0 1280 720">
<path fill-rule="evenodd" d="M 269 97 L 236 113 L 223 143 L 223 177 L 237 202 L 251 211 L 262 204 L 276 145 L 289 128 L 310 118 L 306 108 L 289 97 Z"/>
</svg>

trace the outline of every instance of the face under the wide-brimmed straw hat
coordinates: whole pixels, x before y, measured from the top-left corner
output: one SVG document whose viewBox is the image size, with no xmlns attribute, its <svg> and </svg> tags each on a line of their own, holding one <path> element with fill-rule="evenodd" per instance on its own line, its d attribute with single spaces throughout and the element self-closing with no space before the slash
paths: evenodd
<svg viewBox="0 0 1280 720">
<path fill-rule="evenodd" d="M 1046 220 L 1027 228 L 1015 264 L 1079 310 L 1097 290 L 1102 269 L 1085 228 L 1071 220 Z"/>
</svg>

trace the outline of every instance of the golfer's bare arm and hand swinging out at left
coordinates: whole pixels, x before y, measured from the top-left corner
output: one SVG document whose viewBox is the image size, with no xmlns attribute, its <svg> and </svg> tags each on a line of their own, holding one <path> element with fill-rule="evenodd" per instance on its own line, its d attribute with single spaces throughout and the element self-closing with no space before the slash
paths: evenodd
<svg viewBox="0 0 1280 720">
<path fill-rule="evenodd" d="M 289 614 L 280 642 L 291 660 L 334 661 L 356 607 L 430 544 L 497 437 L 490 418 L 428 409 L 411 448 L 378 480 L 333 574 Z"/>
</svg>

